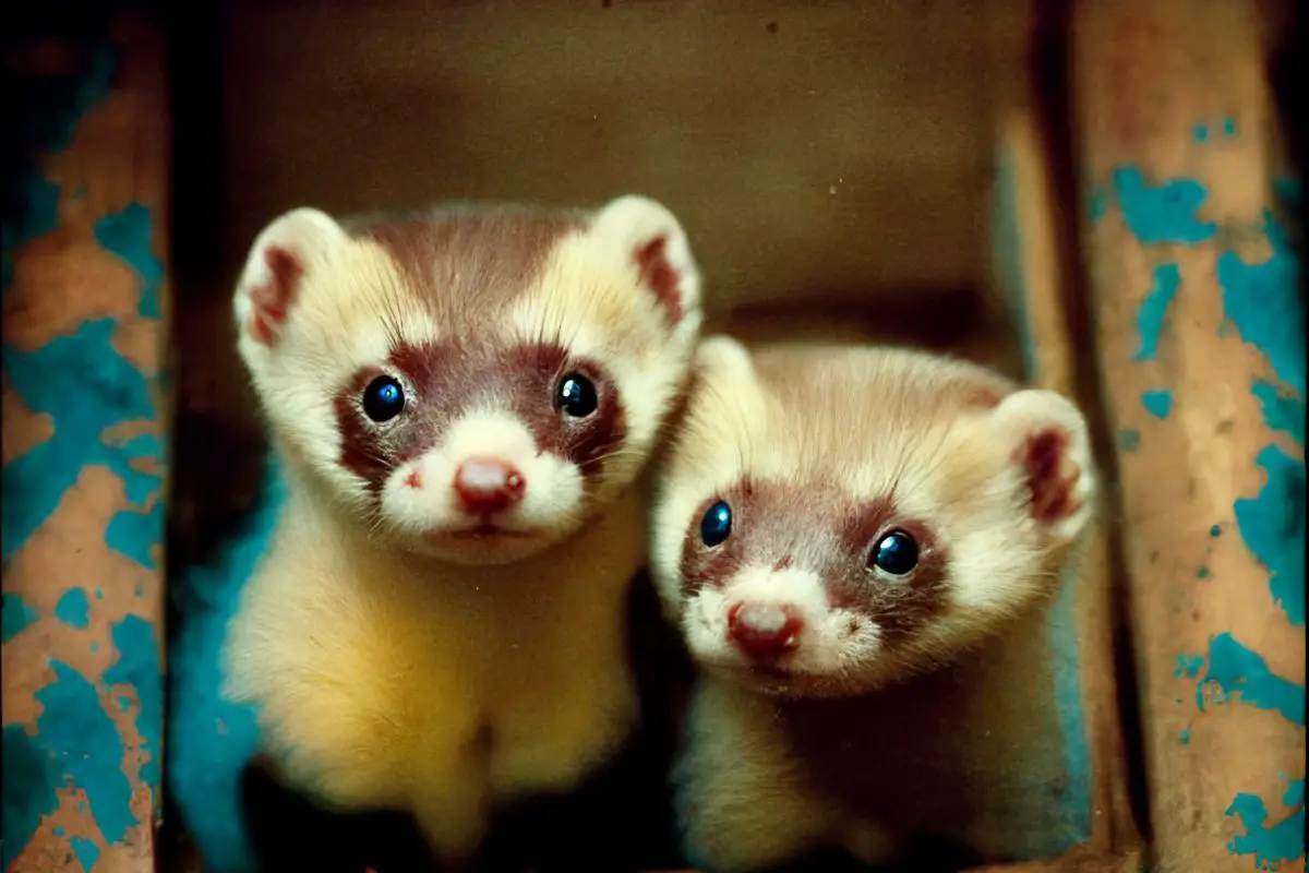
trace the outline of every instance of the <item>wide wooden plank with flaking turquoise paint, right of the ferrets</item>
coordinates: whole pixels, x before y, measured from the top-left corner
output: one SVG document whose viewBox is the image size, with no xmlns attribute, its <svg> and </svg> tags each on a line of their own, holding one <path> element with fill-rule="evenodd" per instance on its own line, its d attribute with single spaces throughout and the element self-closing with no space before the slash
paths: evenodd
<svg viewBox="0 0 1309 873">
<path fill-rule="evenodd" d="M 1304 301 L 1253 3 L 1085 0 L 1085 250 L 1157 869 L 1304 870 Z"/>
</svg>

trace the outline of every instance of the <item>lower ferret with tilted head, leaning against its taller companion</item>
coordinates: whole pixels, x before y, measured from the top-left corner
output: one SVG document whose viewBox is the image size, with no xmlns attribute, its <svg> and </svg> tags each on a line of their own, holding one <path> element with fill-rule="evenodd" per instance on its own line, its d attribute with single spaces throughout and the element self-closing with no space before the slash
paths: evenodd
<svg viewBox="0 0 1309 873">
<path fill-rule="evenodd" d="M 959 670 L 1079 542 L 1081 412 L 905 348 L 712 336 L 694 374 L 651 522 L 651 573 L 699 668 L 673 775 L 692 866 L 867 869 L 923 836 L 984 857 L 969 785 L 1012 783 L 1024 753 L 988 763 L 1001 738 L 982 738 Z"/>
</svg>

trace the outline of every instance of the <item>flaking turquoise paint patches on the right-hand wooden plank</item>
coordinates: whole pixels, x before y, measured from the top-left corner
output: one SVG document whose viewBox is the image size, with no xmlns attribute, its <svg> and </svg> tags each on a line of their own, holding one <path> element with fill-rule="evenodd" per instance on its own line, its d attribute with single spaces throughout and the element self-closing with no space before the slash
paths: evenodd
<svg viewBox="0 0 1309 873">
<path fill-rule="evenodd" d="M 1227 137 L 1236 136 L 1236 119 L 1224 119 L 1221 130 Z M 1212 134 L 1208 123 L 1192 128 L 1192 137 L 1198 143 L 1212 141 Z M 1200 181 L 1175 178 L 1149 183 L 1139 168 L 1122 166 L 1111 174 L 1111 182 L 1124 224 L 1141 243 L 1198 245 L 1216 238 L 1217 224 L 1198 216 L 1208 199 L 1208 191 Z M 1274 188 L 1283 200 L 1297 202 L 1300 198 L 1297 179 L 1275 179 Z M 1302 626 L 1305 321 L 1300 259 L 1289 245 L 1289 234 L 1271 212 L 1263 213 L 1262 229 L 1271 246 L 1267 259 L 1246 263 L 1236 251 L 1223 250 L 1219 254 L 1216 275 L 1227 315 L 1219 335 L 1236 334 L 1264 355 L 1272 378 L 1255 380 L 1247 390 L 1259 402 L 1268 428 L 1289 436 L 1300 446 L 1300 457 L 1292 457 L 1278 445 L 1266 446 L 1259 453 L 1257 465 L 1262 467 L 1267 482 L 1255 496 L 1237 500 L 1233 514 L 1242 543 L 1268 571 L 1272 602 L 1292 626 Z M 1169 264 L 1156 268 L 1152 288 L 1136 313 L 1140 332 L 1135 355 L 1138 361 L 1157 357 L 1165 313 L 1178 293 L 1172 288 L 1172 274 L 1165 272 L 1168 270 Z M 1170 412 L 1172 395 L 1166 389 L 1145 391 L 1140 399 L 1156 418 L 1166 418 Z M 1210 527 L 1211 538 L 1217 538 L 1221 533 L 1221 525 Z M 1200 581 L 1207 580 L 1208 567 L 1202 565 L 1195 575 Z M 1236 643 L 1230 633 L 1215 637 L 1208 662 L 1210 669 L 1200 682 L 1202 687 L 1238 695 L 1246 704 L 1275 708 L 1293 724 L 1304 726 L 1304 688 L 1274 677 L 1263 660 Z M 1195 656 L 1178 656 L 1174 674 L 1194 675 L 1194 668 Z M 1203 703 L 1199 698 L 1202 711 Z M 1190 732 L 1186 732 L 1183 743 L 1189 738 Z M 1289 785 L 1283 804 L 1291 809 L 1289 814 L 1270 823 L 1263 798 L 1238 793 L 1227 814 L 1238 818 L 1246 832 L 1228 846 L 1229 851 L 1253 856 L 1251 860 L 1259 869 L 1275 869 L 1283 861 L 1304 856 L 1302 777 Z"/>
</svg>

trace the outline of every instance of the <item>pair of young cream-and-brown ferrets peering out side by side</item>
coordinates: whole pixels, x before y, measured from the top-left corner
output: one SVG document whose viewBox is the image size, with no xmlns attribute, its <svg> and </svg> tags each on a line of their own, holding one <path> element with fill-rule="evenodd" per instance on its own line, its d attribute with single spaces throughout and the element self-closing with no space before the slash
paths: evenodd
<svg viewBox="0 0 1309 873">
<path fill-rule="evenodd" d="M 289 496 L 229 694 L 281 780 L 412 815 L 449 869 L 669 863 L 658 802 L 622 792 L 666 775 L 630 656 L 647 565 L 703 668 L 673 771 L 686 853 L 893 856 L 885 787 L 842 780 L 895 754 L 869 692 L 1049 592 L 1089 513 L 1085 425 L 1054 393 L 908 351 L 702 342 L 687 236 L 644 198 L 296 209 L 236 318 Z"/>
</svg>

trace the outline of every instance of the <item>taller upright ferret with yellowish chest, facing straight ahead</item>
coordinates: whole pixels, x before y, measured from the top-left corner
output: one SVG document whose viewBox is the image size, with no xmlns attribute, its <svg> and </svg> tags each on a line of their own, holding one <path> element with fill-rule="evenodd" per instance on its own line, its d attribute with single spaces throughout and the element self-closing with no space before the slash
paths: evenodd
<svg viewBox="0 0 1309 873">
<path fill-rule="evenodd" d="M 635 195 L 297 208 L 233 306 L 288 496 L 225 692 L 288 787 L 408 813 L 470 868 L 496 815 L 580 791 L 637 728 L 624 610 L 702 321 L 687 234 Z"/>
</svg>

